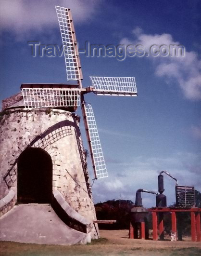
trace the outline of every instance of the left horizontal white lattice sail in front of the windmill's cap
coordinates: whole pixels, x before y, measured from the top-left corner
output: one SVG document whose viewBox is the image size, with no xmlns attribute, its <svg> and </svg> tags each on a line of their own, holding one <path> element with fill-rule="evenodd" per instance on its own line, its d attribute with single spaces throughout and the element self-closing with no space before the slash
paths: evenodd
<svg viewBox="0 0 201 256">
<path fill-rule="evenodd" d="M 67 88 L 22 88 L 25 108 L 80 106 L 80 90 Z"/>
</svg>

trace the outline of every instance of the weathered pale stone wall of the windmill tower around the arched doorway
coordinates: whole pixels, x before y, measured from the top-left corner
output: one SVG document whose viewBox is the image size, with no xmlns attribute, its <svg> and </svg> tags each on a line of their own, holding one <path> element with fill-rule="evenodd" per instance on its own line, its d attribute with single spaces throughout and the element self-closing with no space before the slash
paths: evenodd
<svg viewBox="0 0 201 256">
<path fill-rule="evenodd" d="M 26 147 L 42 148 L 52 159 L 53 189 L 58 189 L 79 214 L 96 219 L 86 183 L 88 173 L 83 170 L 85 156 L 78 119 L 57 109 L 5 111 L 0 120 L 0 199 L 9 189 L 17 197 L 17 159 L 21 152 Z"/>
</svg>

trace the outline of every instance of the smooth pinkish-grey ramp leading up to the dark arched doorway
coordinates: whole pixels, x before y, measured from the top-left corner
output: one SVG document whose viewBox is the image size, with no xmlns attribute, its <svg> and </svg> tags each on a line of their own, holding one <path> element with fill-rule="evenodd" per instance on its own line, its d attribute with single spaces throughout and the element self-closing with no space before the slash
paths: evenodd
<svg viewBox="0 0 201 256">
<path fill-rule="evenodd" d="M 50 204 L 19 204 L 0 217 L 0 241 L 71 245 L 90 243 L 90 233 L 69 228 Z"/>
</svg>

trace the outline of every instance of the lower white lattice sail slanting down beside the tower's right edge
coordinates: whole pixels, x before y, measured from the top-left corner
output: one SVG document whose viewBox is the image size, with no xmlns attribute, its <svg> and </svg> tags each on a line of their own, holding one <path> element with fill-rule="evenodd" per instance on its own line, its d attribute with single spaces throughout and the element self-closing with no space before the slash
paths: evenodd
<svg viewBox="0 0 201 256">
<path fill-rule="evenodd" d="M 90 104 L 85 105 L 86 108 L 86 121 L 88 124 L 88 132 L 89 132 L 89 138 L 90 138 L 90 143 L 91 143 L 91 149 L 92 149 L 92 162 L 94 163 L 95 166 L 95 177 L 96 178 L 105 178 L 108 177 L 106 165 L 105 165 L 105 160 L 104 156 L 102 153 L 102 148 L 100 144 L 100 137 L 96 125 L 96 120 L 94 117 L 94 112 Z"/>
</svg>

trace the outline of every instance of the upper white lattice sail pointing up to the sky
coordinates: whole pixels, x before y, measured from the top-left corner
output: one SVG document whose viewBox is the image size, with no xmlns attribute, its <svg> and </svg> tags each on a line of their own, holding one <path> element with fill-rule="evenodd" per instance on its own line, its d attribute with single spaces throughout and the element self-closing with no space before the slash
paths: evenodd
<svg viewBox="0 0 201 256">
<path fill-rule="evenodd" d="M 71 11 L 60 6 L 55 8 L 62 36 L 67 80 L 83 79 Z"/>
</svg>

